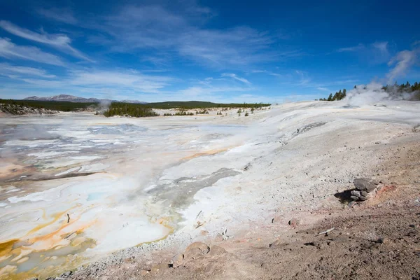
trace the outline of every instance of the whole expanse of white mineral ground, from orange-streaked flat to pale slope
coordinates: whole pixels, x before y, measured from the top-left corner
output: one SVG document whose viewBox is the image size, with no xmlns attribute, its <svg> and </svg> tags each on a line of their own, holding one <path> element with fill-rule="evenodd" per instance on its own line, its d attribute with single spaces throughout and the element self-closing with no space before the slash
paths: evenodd
<svg viewBox="0 0 420 280">
<path fill-rule="evenodd" d="M 200 232 L 233 236 L 342 207 L 335 193 L 372 176 L 386 148 L 416 141 L 419 124 L 418 102 L 1 118 L 0 279 L 44 279 L 125 248 L 181 248 Z"/>
</svg>

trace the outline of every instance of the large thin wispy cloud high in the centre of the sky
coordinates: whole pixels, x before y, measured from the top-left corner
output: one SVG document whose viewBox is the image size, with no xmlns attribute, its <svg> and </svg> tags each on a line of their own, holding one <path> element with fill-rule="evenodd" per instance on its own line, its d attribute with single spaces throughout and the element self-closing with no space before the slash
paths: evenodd
<svg viewBox="0 0 420 280">
<path fill-rule="evenodd" d="M 273 44 L 281 36 L 248 26 L 204 28 L 202 18 L 212 11 L 200 6 L 193 10 L 195 13 L 190 8 L 181 8 L 174 13 L 158 5 L 123 6 L 117 13 L 103 17 L 101 25 L 92 25 L 92 29 L 97 29 L 100 34 L 92 34 L 89 41 L 99 45 L 105 43 L 113 52 L 158 50 L 167 56 L 178 55 L 218 69 L 302 55 L 300 50 L 274 48 Z"/>
</svg>

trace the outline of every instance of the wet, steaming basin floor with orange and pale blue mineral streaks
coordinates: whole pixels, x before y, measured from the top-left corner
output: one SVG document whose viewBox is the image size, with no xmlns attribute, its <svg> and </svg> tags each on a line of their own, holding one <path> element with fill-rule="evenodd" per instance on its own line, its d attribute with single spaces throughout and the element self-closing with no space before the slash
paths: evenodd
<svg viewBox="0 0 420 280">
<path fill-rule="evenodd" d="M 238 146 L 241 130 L 188 118 L 3 118 L 1 274 L 58 273 L 164 239 L 197 190 L 239 174 L 176 166 Z"/>
</svg>

